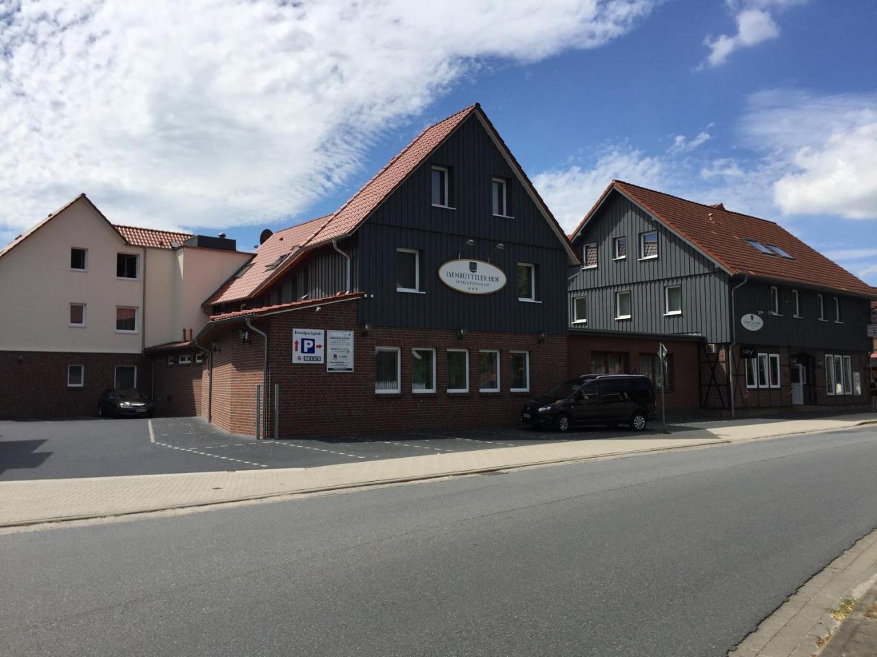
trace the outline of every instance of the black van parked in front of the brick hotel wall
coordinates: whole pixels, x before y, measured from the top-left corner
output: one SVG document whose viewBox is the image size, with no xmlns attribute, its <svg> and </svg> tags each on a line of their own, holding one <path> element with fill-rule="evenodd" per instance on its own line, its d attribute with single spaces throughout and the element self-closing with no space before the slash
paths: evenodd
<svg viewBox="0 0 877 657">
<path fill-rule="evenodd" d="M 530 399 L 521 411 L 525 424 L 558 431 L 576 424 L 629 424 L 643 431 L 655 417 L 652 381 L 634 374 L 583 374 Z"/>
</svg>

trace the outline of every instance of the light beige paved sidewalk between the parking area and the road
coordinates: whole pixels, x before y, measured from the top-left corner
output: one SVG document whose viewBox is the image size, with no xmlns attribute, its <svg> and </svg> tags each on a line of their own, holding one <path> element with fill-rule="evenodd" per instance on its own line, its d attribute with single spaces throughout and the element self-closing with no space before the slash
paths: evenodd
<svg viewBox="0 0 877 657">
<path fill-rule="evenodd" d="M 482 449 L 317 468 L 0 482 L 0 526 L 98 518 L 665 449 L 712 446 L 855 427 L 869 421 L 877 421 L 877 413 L 809 420 L 710 422 L 702 427 L 692 423 L 679 427 L 673 434 L 631 434 L 630 438 Z"/>
</svg>

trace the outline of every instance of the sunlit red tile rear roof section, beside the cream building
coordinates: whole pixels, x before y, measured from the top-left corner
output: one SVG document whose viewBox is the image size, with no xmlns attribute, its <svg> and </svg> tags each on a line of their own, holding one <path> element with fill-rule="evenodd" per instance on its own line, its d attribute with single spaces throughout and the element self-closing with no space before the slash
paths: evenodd
<svg viewBox="0 0 877 657">
<path fill-rule="evenodd" d="M 204 305 L 226 303 L 247 299 L 251 294 L 265 286 L 275 276 L 288 268 L 289 263 L 297 260 L 302 251 L 301 247 L 317 231 L 323 228 L 324 223 L 331 215 L 318 216 L 309 222 L 299 223 L 291 228 L 278 230 L 268 237 L 264 244 L 256 249 L 256 254 L 246 265 L 243 265 L 231 279 L 225 281 L 219 289 L 204 301 Z M 266 269 L 277 258 L 283 257 L 282 267 L 276 266 Z M 243 273 L 241 273 L 243 272 Z M 237 278 L 235 278 L 237 277 Z"/>
</svg>

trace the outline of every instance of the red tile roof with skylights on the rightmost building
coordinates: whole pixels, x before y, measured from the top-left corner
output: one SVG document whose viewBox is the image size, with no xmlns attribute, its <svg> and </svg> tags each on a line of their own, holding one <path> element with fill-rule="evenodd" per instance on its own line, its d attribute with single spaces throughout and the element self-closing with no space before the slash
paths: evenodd
<svg viewBox="0 0 877 657">
<path fill-rule="evenodd" d="M 645 208 L 731 274 L 749 274 L 756 278 L 802 283 L 872 298 L 875 296 L 872 286 L 825 258 L 777 223 L 730 212 L 718 207 L 719 204 L 710 206 L 686 201 L 622 180 L 610 183 L 571 238 L 579 235 L 613 190 Z M 778 246 L 787 251 L 792 259 L 761 253 L 746 242 L 748 239 L 765 246 Z"/>
</svg>

